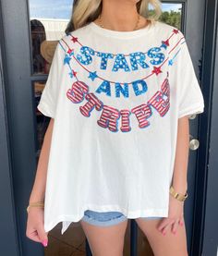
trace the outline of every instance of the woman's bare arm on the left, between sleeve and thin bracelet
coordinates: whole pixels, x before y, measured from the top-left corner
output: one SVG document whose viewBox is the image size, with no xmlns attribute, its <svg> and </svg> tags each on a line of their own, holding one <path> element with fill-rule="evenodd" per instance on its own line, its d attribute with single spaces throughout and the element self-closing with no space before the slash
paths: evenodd
<svg viewBox="0 0 218 256">
<path fill-rule="evenodd" d="M 42 142 L 42 150 L 40 153 L 40 158 L 37 166 L 35 181 L 33 184 L 33 188 L 30 194 L 30 202 L 34 201 L 43 201 L 44 200 L 44 192 L 46 185 L 46 175 L 47 175 L 47 165 L 48 158 L 50 152 L 50 145 L 52 139 L 54 127 L 54 118 L 51 118 L 48 128 L 44 134 L 43 142 Z"/>
</svg>

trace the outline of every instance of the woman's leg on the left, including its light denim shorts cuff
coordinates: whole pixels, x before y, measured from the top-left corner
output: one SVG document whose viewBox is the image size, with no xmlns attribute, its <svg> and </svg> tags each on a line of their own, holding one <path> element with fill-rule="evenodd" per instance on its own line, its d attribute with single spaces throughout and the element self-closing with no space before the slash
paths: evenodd
<svg viewBox="0 0 218 256">
<path fill-rule="evenodd" d="M 127 217 L 119 212 L 87 210 L 80 220 L 93 256 L 122 256 Z"/>
</svg>

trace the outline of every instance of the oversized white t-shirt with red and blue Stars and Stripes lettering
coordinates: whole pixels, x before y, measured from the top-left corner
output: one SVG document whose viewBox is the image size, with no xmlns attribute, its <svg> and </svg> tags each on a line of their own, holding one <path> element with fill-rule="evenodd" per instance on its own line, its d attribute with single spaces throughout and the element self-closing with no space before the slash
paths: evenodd
<svg viewBox="0 0 218 256">
<path fill-rule="evenodd" d="M 204 100 L 184 34 L 94 22 L 63 36 L 38 109 L 55 118 L 44 205 L 63 234 L 85 210 L 168 215 L 179 117 Z"/>
</svg>

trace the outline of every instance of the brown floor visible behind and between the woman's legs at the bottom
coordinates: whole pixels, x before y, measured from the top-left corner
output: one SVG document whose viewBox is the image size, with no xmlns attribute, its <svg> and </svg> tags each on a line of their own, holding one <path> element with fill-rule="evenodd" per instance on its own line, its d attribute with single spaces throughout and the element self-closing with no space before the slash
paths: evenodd
<svg viewBox="0 0 218 256">
<path fill-rule="evenodd" d="M 72 223 L 64 235 L 61 235 L 61 223 L 49 232 L 48 247 L 44 249 L 45 256 L 86 256 L 85 234 L 79 223 Z M 130 256 L 130 223 L 128 221 L 125 237 L 124 256 Z M 147 238 L 138 228 L 138 255 L 153 256 Z"/>
</svg>

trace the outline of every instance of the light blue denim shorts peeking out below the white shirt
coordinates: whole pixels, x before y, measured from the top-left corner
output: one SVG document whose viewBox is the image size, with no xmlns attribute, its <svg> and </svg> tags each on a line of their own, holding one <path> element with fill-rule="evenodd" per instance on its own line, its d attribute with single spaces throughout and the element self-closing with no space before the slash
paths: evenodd
<svg viewBox="0 0 218 256">
<path fill-rule="evenodd" d="M 161 219 L 163 217 L 141 217 L 141 219 Z M 86 210 L 82 217 L 83 221 L 95 226 L 113 226 L 127 220 L 127 216 L 120 212 L 94 212 Z"/>
</svg>

